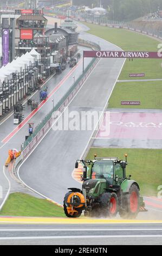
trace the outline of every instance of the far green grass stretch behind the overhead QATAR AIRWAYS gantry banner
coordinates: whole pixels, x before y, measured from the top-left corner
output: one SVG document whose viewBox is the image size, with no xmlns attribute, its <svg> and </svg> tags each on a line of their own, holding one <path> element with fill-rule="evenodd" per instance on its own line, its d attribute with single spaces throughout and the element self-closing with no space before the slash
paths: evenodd
<svg viewBox="0 0 162 256">
<path fill-rule="evenodd" d="M 160 42 L 149 38 L 146 35 L 127 31 L 125 29 L 108 28 L 90 23 L 85 23 L 85 25 L 90 28 L 88 31 L 89 34 L 94 34 L 100 38 L 112 42 L 113 44 L 122 48 L 124 51 L 158 51 L 158 44 L 160 44 Z M 134 59 L 133 62 L 129 62 L 129 59 L 127 59 L 119 79 L 134 80 L 134 78 L 129 78 L 129 74 L 132 73 L 145 73 L 146 79 L 162 78 L 161 60 Z"/>
</svg>

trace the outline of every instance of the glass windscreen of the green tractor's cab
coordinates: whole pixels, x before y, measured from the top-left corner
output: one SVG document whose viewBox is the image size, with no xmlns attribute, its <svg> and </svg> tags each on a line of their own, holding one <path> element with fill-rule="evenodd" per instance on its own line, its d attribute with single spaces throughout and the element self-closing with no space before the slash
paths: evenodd
<svg viewBox="0 0 162 256">
<path fill-rule="evenodd" d="M 92 166 L 92 179 L 104 179 L 113 184 L 113 161 L 96 161 Z"/>
</svg>

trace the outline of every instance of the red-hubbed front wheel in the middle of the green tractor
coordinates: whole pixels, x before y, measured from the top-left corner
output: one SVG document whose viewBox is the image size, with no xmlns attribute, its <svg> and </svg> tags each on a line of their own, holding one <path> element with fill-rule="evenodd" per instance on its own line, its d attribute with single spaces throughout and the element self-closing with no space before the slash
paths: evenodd
<svg viewBox="0 0 162 256">
<path fill-rule="evenodd" d="M 115 217 L 118 213 L 119 200 L 116 194 L 113 193 L 103 193 L 101 198 L 101 209 L 102 215 L 105 217 Z"/>
</svg>

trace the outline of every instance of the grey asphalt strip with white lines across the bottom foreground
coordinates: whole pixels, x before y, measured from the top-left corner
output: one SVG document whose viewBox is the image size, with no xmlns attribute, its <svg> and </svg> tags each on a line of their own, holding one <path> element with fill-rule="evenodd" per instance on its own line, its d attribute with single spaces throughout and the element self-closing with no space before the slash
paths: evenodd
<svg viewBox="0 0 162 256">
<path fill-rule="evenodd" d="M 162 245 L 162 224 L 1 224 L 0 245 Z"/>
</svg>

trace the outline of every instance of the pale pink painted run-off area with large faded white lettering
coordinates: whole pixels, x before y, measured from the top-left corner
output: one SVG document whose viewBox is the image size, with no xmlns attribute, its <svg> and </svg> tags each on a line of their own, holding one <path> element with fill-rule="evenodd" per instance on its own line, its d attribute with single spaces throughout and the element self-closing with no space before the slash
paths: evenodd
<svg viewBox="0 0 162 256">
<path fill-rule="evenodd" d="M 110 113 L 109 134 L 104 123 L 97 138 L 162 139 L 162 113 Z"/>
</svg>

